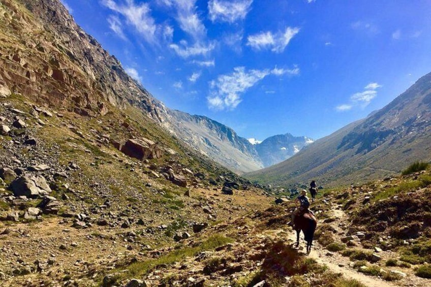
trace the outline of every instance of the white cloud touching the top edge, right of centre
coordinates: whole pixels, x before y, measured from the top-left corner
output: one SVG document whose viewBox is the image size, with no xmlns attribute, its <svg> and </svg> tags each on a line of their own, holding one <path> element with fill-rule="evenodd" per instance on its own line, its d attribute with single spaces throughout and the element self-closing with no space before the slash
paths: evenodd
<svg viewBox="0 0 431 287">
<path fill-rule="evenodd" d="M 208 2 L 209 19 L 233 23 L 245 19 L 253 0 L 210 0 Z"/>
</svg>

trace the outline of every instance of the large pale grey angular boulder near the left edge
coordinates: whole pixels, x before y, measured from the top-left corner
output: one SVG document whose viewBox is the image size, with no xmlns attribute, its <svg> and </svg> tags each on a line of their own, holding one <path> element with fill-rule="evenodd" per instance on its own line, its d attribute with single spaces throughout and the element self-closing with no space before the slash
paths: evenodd
<svg viewBox="0 0 431 287">
<path fill-rule="evenodd" d="M 27 198 L 38 198 L 51 193 L 51 188 L 43 176 L 18 177 L 11 183 L 14 196 L 25 196 Z"/>
</svg>

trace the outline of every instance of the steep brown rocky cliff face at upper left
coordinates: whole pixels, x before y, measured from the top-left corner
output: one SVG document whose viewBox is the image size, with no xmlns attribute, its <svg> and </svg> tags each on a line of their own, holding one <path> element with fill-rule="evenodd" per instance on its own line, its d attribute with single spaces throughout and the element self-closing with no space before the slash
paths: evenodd
<svg viewBox="0 0 431 287">
<path fill-rule="evenodd" d="M 139 106 L 163 121 L 163 106 L 86 34 L 57 0 L 2 1 L 0 86 L 38 104 L 83 115 L 105 114 L 109 105 Z"/>
</svg>

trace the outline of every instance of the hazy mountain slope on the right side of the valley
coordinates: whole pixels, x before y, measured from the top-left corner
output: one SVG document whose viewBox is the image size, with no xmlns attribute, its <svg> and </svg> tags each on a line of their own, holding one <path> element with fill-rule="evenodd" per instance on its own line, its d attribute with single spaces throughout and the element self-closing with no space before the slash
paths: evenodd
<svg viewBox="0 0 431 287">
<path fill-rule="evenodd" d="M 431 74 L 383 109 L 316 141 L 278 165 L 247 177 L 276 185 L 316 179 L 323 185 L 390 176 L 431 160 Z"/>
</svg>

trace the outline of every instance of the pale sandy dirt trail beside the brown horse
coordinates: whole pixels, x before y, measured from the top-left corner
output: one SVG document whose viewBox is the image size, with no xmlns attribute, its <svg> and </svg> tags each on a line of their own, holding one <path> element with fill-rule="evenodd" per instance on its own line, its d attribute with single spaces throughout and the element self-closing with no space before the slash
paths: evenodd
<svg viewBox="0 0 431 287">
<path fill-rule="evenodd" d="M 332 215 L 335 221 L 332 222 L 333 226 L 340 226 L 340 223 L 347 219 L 347 215 L 340 209 L 332 209 Z M 291 240 L 296 242 L 296 233 L 292 232 Z M 305 252 L 305 242 L 302 240 L 303 235 L 300 235 L 300 250 Z M 337 252 L 329 252 L 324 249 L 317 241 L 313 242 L 313 248 L 308 255 L 310 258 L 316 260 L 317 263 L 326 265 L 332 272 L 342 273 L 345 277 L 355 279 L 366 286 L 370 287 L 394 287 L 399 286 L 395 282 L 384 281 L 378 277 L 368 276 L 363 273 L 357 272 L 355 269 L 350 267 L 349 258 L 341 256 Z"/>
</svg>

